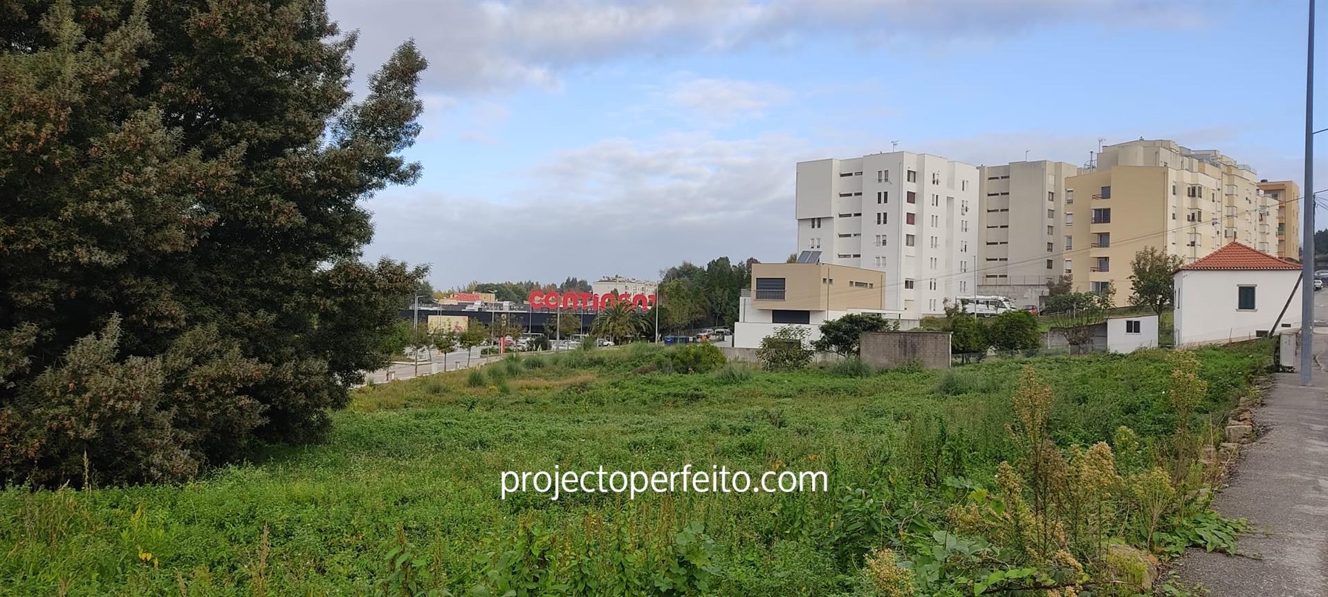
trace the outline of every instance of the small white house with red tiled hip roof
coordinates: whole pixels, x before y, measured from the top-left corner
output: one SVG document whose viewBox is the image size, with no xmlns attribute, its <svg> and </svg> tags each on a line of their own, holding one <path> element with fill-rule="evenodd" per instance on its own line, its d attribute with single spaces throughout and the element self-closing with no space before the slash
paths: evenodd
<svg viewBox="0 0 1328 597">
<path fill-rule="evenodd" d="M 1181 267 L 1173 280 L 1178 348 L 1239 342 L 1300 326 L 1300 264 L 1246 244 L 1228 243 Z"/>
</svg>

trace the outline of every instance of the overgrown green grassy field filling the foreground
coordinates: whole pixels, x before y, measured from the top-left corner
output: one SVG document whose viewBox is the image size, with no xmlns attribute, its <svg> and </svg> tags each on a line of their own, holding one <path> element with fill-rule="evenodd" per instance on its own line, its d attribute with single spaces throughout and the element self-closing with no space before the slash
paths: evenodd
<svg viewBox="0 0 1328 597">
<path fill-rule="evenodd" d="M 1202 435 L 1251 391 L 1267 348 L 1197 353 L 1207 389 L 1189 429 Z M 1135 452 L 1162 454 L 1178 423 L 1169 354 L 679 374 L 643 345 L 369 386 L 325 443 L 264 448 L 189 484 L 0 492 L 0 594 L 891 594 L 906 586 L 890 585 L 895 555 L 919 577 L 950 565 L 923 553 L 934 540 L 1015 568 L 995 537 L 944 532 L 1021 459 L 1007 426 L 1023 367 L 1054 394 L 1061 448 L 1129 426 Z M 684 463 L 825 471 L 831 490 L 499 499 L 509 470 Z M 1102 535 L 1138 543 L 1117 527 Z"/>
</svg>

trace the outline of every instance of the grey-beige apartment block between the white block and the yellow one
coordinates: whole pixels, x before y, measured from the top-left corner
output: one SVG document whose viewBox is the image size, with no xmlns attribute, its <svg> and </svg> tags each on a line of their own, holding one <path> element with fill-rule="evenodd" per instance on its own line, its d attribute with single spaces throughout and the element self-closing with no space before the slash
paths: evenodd
<svg viewBox="0 0 1328 597">
<path fill-rule="evenodd" d="M 1037 305 L 1064 269 L 1065 162 L 1011 162 L 977 168 L 977 295 Z"/>
</svg>

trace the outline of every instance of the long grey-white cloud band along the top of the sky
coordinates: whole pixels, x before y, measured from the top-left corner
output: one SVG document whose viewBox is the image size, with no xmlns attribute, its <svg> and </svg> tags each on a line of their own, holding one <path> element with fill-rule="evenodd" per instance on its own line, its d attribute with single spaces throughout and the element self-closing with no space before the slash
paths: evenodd
<svg viewBox="0 0 1328 597">
<path fill-rule="evenodd" d="M 558 89 L 562 73 L 624 57 L 721 53 L 834 36 L 863 45 L 926 45 L 1008 38 L 1070 21 L 1102 27 L 1193 27 L 1190 4 L 1100 1 L 331 1 L 332 17 L 360 29 L 356 64 L 381 64 L 414 37 L 430 68 L 426 88 L 446 93 Z"/>
</svg>

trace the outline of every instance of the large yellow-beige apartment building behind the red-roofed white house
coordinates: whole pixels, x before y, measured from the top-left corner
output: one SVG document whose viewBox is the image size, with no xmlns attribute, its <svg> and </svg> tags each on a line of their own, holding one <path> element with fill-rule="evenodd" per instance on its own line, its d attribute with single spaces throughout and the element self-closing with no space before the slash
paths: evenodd
<svg viewBox="0 0 1328 597">
<path fill-rule="evenodd" d="M 1165 139 L 1105 146 L 1065 182 L 1061 272 L 1078 291 L 1114 284 L 1123 304 L 1139 249 L 1158 247 L 1193 263 L 1239 240 L 1272 253 L 1276 218 L 1254 168 L 1219 151 Z"/>
</svg>

